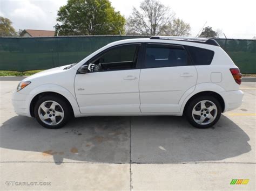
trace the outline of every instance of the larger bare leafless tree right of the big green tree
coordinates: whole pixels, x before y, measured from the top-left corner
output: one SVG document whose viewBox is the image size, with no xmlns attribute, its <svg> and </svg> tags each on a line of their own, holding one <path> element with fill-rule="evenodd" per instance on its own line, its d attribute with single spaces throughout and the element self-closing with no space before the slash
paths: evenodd
<svg viewBox="0 0 256 191">
<path fill-rule="evenodd" d="M 139 10 L 133 7 L 132 15 L 127 19 L 127 34 L 155 36 L 163 34 L 175 13 L 157 0 L 144 0 Z"/>
</svg>

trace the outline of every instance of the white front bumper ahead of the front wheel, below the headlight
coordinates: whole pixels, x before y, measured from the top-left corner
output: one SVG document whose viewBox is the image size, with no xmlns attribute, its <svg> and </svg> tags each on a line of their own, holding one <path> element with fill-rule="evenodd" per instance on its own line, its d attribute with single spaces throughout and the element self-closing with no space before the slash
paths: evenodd
<svg viewBox="0 0 256 191">
<path fill-rule="evenodd" d="M 14 110 L 16 114 L 31 117 L 30 115 L 31 100 L 32 100 L 32 95 L 20 94 L 15 91 L 14 94 L 12 94 L 11 101 L 12 101 L 12 105 L 14 106 Z"/>
</svg>

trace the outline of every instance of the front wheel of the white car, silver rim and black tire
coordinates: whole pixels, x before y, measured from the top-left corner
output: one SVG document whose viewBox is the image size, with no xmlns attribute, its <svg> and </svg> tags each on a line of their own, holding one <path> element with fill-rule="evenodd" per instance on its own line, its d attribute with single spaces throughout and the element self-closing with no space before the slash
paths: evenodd
<svg viewBox="0 0 256 191">
<path fill-rule="evenodd" d="M 68 103 L 57 96 L 44 96 L 35 105 L 35 117 L 42 126 L 49 129 L 62 128 L 71 116 Z"/>
</svg>

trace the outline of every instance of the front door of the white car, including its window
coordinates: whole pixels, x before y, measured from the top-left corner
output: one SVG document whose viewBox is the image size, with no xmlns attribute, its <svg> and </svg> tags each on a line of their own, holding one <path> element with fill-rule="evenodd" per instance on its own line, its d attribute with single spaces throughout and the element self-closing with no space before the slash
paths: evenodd
<svg viewBox="0 0 256 191">
<path fill-rule="evenodd" d="M 140 44 L 112 47 L 86 64 L 89 72 L 77 74 L 75 92 L 82 114 L 138 113 Z"/>
</svg>

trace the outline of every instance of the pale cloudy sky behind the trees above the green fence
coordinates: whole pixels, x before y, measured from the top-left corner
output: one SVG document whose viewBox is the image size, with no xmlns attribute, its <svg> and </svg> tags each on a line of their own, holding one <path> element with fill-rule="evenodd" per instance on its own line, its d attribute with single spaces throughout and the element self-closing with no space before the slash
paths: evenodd
<svg viewBox="0 0 256 191">
<path fill-rule="evenodd" d="M 110 0 L 125 17 L 142 0 Z M 227 38 L 252 39 L 256 36 L 256 0 L 159 0 L 191 26 L 195 37 L 204 26 L 221 30 Z M 16 30 L 54 30 L 57 11 L 67 0 L 0 0 L 0 16 L 9 18 Z M 224 37 L 223 34 L 220 37 Z"/>
</svg>

